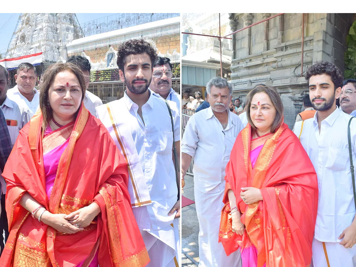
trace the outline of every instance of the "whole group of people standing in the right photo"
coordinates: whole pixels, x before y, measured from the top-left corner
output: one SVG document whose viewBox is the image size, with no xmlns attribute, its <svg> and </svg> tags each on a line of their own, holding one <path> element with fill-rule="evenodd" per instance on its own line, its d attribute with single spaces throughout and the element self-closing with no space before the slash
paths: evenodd
<svg viewBox="0 0 356 267">
<path fill-rule="evenodd" d="M 324 61 L 305 79 L 293 131 L 273 87 L 253 88 L 237 116 L 232 85 L 206 85 L 210 107 L 189 118 L 181 149 L 183 181 L 194 159 L 199 266 L 356 266 L 356 80 Z"/>
</svg>

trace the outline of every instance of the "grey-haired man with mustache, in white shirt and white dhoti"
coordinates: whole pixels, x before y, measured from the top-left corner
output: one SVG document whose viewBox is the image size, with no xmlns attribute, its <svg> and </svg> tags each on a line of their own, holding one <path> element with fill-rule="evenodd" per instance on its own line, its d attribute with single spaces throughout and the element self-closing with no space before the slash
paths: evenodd
<svg viewBox="0 0 356 267">
<path fill-rule="evenodd" d="M 240 251 L 226 256 L 218 243 L 224 206 L 225 168 L 235 139 L 243 129 L 239 116 L 230 112 L 232 84 L 215 77 L 206 84 L 209 108 L 189 118 L 182 138 L 182 177 L 194 158 L 194 197 L 199 220 L 199 266 L 241 266 Z M 182 182 L 183 184 L 183 182 Z"/>
</svg>

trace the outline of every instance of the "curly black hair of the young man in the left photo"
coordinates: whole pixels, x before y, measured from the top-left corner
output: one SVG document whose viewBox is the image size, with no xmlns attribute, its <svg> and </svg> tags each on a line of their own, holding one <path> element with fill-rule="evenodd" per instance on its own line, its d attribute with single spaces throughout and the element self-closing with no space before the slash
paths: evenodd
<svg viewBox="0 0 356 267">
<path fill-rule="evenodd" d="M 117 67 L 119 67 L 119 69 L 124 72 L 126 57 L 132 54 L 136 55 L 143 53 L 148 54 L 151 59 L 151 66 L 153 67 L 157 59 L 157 53 L 155 49 L 150 45 L 150 43 L 146 42 L 143 39 L 131 39 L 122 43 L 122 45 L 119 47 L 119 51 L 117 51 Z"/>
</svg>

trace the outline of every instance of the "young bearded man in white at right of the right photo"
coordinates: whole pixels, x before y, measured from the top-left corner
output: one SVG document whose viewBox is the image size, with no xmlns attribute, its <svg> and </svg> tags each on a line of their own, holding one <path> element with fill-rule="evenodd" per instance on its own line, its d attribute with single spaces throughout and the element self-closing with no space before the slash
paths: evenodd
<svg viewBox="0 0 356 267">
<path fill-rule="evenodd" d="M 318 213 L 312 245 L 314 267 L 354 267 L 356 220 L 347 138 L 351 116 L 336 106 L 342 74 L 334 64 L 321 61 L 309 67 L 305 79 L 316 113 L 311 119 L 297 122 L 294 133 L 318 175 Z M 354 160 L 355 144 L 356 121 L 352 121 Z"/>
</svg>

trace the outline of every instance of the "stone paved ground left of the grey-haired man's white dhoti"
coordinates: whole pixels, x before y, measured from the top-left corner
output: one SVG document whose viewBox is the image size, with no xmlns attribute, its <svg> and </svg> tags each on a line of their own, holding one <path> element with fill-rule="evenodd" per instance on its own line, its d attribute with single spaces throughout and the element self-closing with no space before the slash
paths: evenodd
<svg viewBox="0 0 356 267">
<path fill-rule="evenodd" d="M 193 177 L 184 177 L 184 197 L 194 200 Z M 182 267 L 195 267 L 199 264 L 198 246 L 199 223 L 195 204 L 182 208 Z"/>
</svg>

